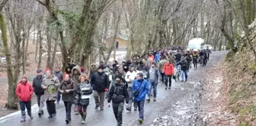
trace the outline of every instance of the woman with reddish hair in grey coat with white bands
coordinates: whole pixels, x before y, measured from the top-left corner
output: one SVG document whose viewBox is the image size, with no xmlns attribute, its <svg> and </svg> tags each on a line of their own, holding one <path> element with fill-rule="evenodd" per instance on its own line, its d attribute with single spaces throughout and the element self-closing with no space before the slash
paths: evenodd
<svg viewBox="0 0 256 126">
<path fill-rule="evenodd" d="M 81 83 L 76 86 L 76 95 L 78 98 L 78 112 L 81 115 L 81 123 L 85 124 L 85 118 L 87 115 L 87 106 L 90 103 L 92 87 L 89 83 L 88 76 L 82 74 L 79 77 Z"/>
</svg>

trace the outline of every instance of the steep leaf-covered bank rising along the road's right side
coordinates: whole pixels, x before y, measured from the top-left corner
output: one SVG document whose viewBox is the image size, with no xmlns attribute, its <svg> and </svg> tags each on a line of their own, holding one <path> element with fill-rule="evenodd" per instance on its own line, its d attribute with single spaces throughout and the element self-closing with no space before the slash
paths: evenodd
<svg viewBox="0 0 256 126">
<path fill-rule="evenodd" d="M 256 47 L 256 27 L 250 39 Z M 226 55 L 224 83 L 228 84 L 228 107 L 237 115 L 237 124 L 256 125 L 256 62 L 250 46 L 241 39 L 242 46 Z"/>
</svg>

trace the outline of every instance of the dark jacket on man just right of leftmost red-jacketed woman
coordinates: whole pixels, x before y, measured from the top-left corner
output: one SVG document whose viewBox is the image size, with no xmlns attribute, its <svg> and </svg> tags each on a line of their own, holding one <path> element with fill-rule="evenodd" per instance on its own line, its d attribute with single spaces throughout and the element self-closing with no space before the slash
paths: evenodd
<svg viewBox="0 0 256 126">
<path fill-rule="evenodd" d="M 43 82 L 43 75 L 41 77 L 34 77 L 33 79 L 33 89 L 34 89 L 34 93 L 36 93 L 36 95 L 43 95 L 44 94 L 44 90 L 41 87 L 41 84 Z"/>
</svg>

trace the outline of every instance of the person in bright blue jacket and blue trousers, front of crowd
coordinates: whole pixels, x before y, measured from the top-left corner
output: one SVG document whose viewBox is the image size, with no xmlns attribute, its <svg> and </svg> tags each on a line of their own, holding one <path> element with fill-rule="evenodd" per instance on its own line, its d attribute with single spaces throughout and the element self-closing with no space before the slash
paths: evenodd
<svg viewBox="0 0 256 126">
<path fill-rule="evenodd" d="M 133 81 L 133 96 L 134 102 L 139 108 L 139 123 L 142 124 L 144 119 L 144 103 L 146 99 L 146 94 L 149 93 L 149 84 L 147 80 L 143 79 L 143 74 L 137 74 L 136 80 Z"/>
</svg>

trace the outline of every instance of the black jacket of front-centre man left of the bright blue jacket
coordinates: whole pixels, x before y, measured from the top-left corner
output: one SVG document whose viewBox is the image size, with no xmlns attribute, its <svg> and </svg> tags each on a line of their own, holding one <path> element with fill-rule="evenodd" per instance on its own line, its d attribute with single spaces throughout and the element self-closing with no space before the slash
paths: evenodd
<svg viewBox="0 0 256 126">
<path fill-rule="evenodd" d="M 115 83 L 114 86 L 110 88 L 107 102 L 111 102 L 111 100 L 113 103 L 124 102 L 124 100 L 126 103 L 129 102 L 129 94 L 124 83 Z"/>
</svg>

